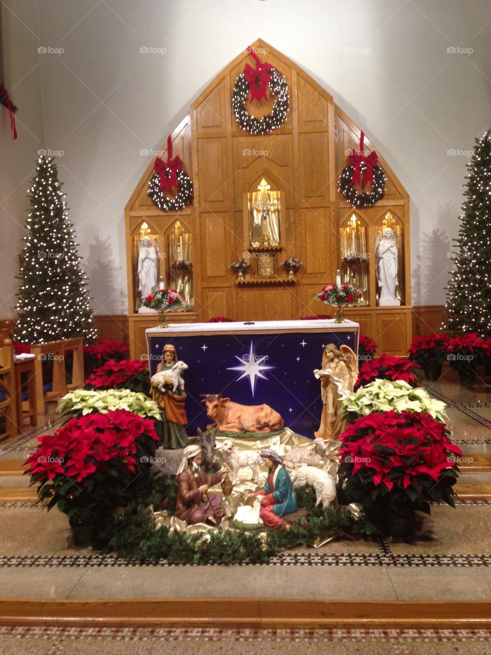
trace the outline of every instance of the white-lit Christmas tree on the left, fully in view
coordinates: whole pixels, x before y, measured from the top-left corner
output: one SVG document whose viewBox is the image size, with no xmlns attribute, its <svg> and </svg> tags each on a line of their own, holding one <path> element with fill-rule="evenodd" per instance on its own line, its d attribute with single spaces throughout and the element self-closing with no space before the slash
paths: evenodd
<svg viewBox="0 0 491 655">
<path fill-rule="evenodd" d="M 96 337 L 87 276 L 53 159 L 39 157 L 29 189 L 26 246 L 20 255 L 16 341 L 46 343 Z"/>
</svg>

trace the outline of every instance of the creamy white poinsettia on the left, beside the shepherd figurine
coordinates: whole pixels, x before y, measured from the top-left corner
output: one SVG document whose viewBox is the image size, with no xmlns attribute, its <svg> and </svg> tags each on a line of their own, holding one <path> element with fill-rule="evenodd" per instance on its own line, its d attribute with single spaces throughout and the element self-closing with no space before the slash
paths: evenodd
<svg viewBox="0 0 491 655">
<path fill-rule="evenodd" d="M 129 389 L 90 390 L 77 389 L 66 394 L 58 405 L 60 414 L 71 417 L 91 412 L 106 414 L 109 409 L 127 409 L 141 417 L 160 420 L 160 409 L 145 394 Z"/>
</svg>

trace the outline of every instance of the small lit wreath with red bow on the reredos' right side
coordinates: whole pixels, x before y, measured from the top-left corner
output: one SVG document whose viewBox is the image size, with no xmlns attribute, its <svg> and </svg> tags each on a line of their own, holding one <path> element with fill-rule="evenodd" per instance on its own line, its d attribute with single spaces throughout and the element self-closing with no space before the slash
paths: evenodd
<svg viewBox="0 0 491 655">
<path fill-rule="evenodd" d="M 352 207 L 373 207 L 378 200 L 382 200 L 385 193 L 386 175 L 378 164 L 375 151 L 365 155 L 364 140 L 365 134 L 361 132 L 359 152 L 352 152 L 350 163 L 343 169 L 338 182 L 338 191 Z M 371 185 L 371 191 L 359 191 L 367 185 Z"/>
</svg>

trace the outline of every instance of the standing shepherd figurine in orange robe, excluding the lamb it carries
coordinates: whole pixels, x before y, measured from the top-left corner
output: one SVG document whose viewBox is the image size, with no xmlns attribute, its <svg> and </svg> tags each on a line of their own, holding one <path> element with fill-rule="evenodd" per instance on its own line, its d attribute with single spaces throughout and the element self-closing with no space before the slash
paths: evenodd
<svg viewBox="0 0 491 655">
<path fill-rule="evenodd" d="M 162 361 L 158 364 L 156 373 L 170 371 L 177 362 L 177 353 L 171 343 L 162 348 Z M 183 448 L 187 444 L 187 415 L 184 403 L 187 398 L 185 390 L 164 384 L 164 392 L 152 386 L 152 398 L 162 409 L 162 421 L 156 421 L 155 427 L 164 448 Z"/>
</svg>

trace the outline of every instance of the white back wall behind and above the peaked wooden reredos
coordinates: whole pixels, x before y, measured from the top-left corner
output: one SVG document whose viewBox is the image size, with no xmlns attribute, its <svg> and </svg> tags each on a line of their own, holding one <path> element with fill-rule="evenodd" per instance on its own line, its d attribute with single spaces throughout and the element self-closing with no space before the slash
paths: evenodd
<svg viewBox="0 0 491 655">
<path fill-rule="evenodd" d="M 447 150 L 471 149 L 490 122 L 488 0 L 40 4 L 41 45 L 64 48 L 40 57 L 46 147 L 64 151 L 60 178 L 96 313 L 126 313 L 123 209 L 151 159 L 141 149 L 164 143 L 258 37 L 327 88 L 388 160 L 411 197 L 412 302 L 444 302 L 468 160 Z"/>
</svg>

